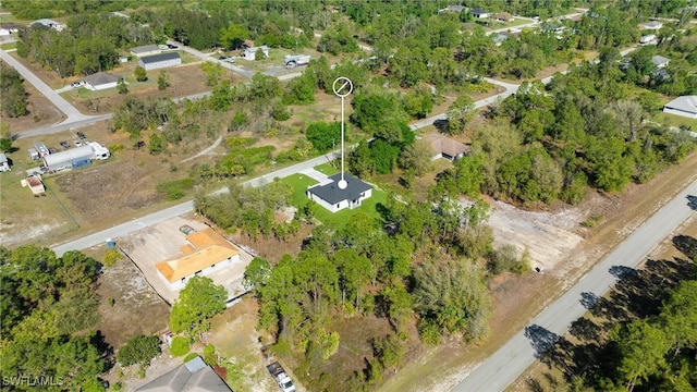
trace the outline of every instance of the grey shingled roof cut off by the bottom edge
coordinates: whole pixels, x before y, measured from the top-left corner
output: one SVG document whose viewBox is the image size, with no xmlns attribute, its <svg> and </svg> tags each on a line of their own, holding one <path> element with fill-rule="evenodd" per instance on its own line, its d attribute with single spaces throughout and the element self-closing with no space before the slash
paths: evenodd
<svg viewBox="0 0 697 392">
<path fill-rule="evenodd" d="M 225 382 L 206 365 L 200 357 L 196 357 L 174 370 L 138 388 L 136 391 L 147 392 L 230 392 Z"/>
</svg>

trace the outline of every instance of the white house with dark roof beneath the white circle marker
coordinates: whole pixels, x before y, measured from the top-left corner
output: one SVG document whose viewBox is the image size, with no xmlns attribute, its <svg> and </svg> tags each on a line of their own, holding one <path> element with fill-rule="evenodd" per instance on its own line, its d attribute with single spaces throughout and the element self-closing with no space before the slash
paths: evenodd
<svg viewBox="0 0 697 392">
<path fill-rule="evenodd" d="M 332 180 L 331 183 L 315 185 L 308 188 L 306 194 L 310 200 L 316 201 L 331 212 L 337 212 L 344 208 L 354 209 L 360 207 L 363 200 L 372 196 L 372 186 L 348 173 L 344 173 L 345 189 L 339 187 L 341 173 L 330 175 L 329 179 Z"/>
</svg>

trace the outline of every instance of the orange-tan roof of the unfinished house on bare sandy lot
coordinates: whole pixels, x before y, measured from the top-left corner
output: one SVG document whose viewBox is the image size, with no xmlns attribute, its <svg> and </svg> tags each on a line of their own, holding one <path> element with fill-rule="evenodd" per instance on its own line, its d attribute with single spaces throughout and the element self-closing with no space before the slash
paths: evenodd
<svg viewBox="0 0 697 392">
<path fill-rule="evenodd" d="M 155 267 L 170 282 L 189 277 L 217 262 L 240 254 L 240 249 L 212 229 L 188 234 L 191 245 L 181 247 L 183 256 L 158 262 Z"/>
</svg>

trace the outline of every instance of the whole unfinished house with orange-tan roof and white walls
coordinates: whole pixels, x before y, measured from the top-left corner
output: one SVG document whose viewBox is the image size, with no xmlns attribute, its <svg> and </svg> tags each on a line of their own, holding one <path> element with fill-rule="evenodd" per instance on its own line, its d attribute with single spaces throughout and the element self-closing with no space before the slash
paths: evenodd
<svg viewBox="0 0 697 392">
<path fill-rule="evenodd" d="M 186 286 L 195 275 L 207 275 L 240 261 L 240 249 L 212 229 L 186 236 L 187 245 L 180 248 L 182 256 L 158 262 L 160 278 L 172 291 Z"/>
</svg>

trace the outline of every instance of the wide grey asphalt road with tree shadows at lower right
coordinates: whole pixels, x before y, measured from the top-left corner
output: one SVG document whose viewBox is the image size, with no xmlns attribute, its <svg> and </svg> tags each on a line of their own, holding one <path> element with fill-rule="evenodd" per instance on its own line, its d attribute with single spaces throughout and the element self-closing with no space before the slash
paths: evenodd
<svg viewBox="0 0 697 392">
<path fill-rule="evenodd" d="M 602 296 L 627 268 L 644 261 L 653 247 L 695 212 L 687 196 L 697 196 L 697 181 L 649 218 L 571 290 L 535 317 L 498 352 L 481 363 L 453 391 L 503 391 L 584 315 L 585 298 Z"/>
</svg>

